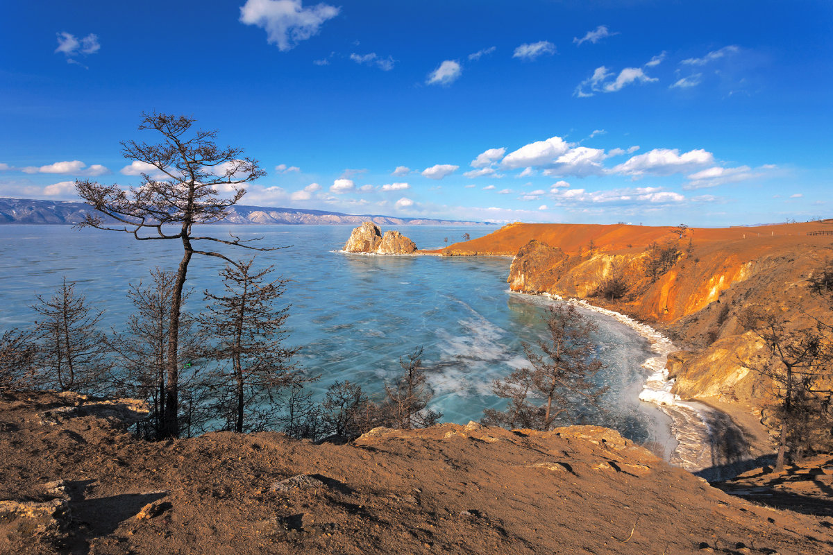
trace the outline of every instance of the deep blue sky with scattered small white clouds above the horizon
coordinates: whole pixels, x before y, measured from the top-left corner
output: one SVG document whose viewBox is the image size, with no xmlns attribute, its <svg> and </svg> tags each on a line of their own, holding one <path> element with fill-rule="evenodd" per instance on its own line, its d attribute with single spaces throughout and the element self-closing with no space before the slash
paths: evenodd
<svg viewBox="0 0 833 555">
<path fill-rule="evenodd" d="M 244 204 L 481 221 L 833 216 L 833 2 L 8 2 L 0 196 L 137 185 L 142 111 Z M 133 174 L 133 175 L 132 175 Z"/>
</svg>

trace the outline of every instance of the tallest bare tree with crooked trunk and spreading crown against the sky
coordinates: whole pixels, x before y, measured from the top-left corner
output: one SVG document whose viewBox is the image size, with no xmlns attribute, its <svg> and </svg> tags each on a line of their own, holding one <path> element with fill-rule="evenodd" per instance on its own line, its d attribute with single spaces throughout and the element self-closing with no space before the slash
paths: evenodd
<svg viewBox="0 0 833 555">
<path fill-rule="evenodd" d="M 178 240 L 182 242 L 182 260 L 177 270 L 171 301 L 170 326 L 167 336 L 167 380 L 165 392 L 164 433 L 177 437 L 179 402 L 179 315 L 182 288 L 187 279 L 193 255 L 214 256 L 232 262 L 221 252 L 197 245 L 234 245 L 255 250 L 247 240 L 230 235 L 220 239 L 197 235 L 193 226 L 221 221 L 228 209 L 239 201 L 245 189 L 240 185 L 266 175 L 258 162 L 243 156 L 241 148 L 220 148 L 214 142 L 217 131 L 192 131 L 192 117 L 164 113 L 144 113 L 139 130 L 157 131 L 162 142 L 148 144 L 123 141 L 122 156 L 142 172 L 142 185 L 129 187 L 105 186 L 94 181 L 76 181 L 78 196 L 92 205 L 102 216 L 87 215 L 79 227 L 122 231 L 137 240 Z M 217 188 L 232 190 L 228 198 L 218 196 Z"/>
</svg>

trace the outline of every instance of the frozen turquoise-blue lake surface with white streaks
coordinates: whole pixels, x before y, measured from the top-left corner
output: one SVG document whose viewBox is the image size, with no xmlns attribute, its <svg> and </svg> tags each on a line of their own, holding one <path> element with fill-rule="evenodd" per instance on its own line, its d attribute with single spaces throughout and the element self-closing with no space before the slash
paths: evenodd
<svg viewBox="0 0 833 555">
<path fill-rule="evenodd" d="M 345 225 L 212 225 L 198 233 L 261 237 L 260 246 L 280 250 L 254 253 L 224 249 L 235 258 L 257 254 L 258 265 L 274 265 L 289 280 L 282 300 L 292 305 L 288 343 L 302 346 L 299 362 L 329 384 L 349 379 L 371 393 L 397 374 L 399 357 L 418 346 L 434 390 L 431 408 L 444 421 L 465 424 L 483 409 L 500 407 L 491 394 L 493 379 L 526 364 L 521 341 L 542 337 L 541 315 L 549 300 L 510 293 L 508 257 L 378 256 L 339 252 L 352 230 Z M 494 230 L 491 226 L 403 225 L 397 227 L 420 248 L 439 248 Z M 203 241 L 207 243 L 207 241 Z M 200 245 L 208 248 L 213 245 Z M 147 281 L 153 266 L 175 269 L 182 255 L 176 240 L 138 241 L 132 235 L 74 230 L 64 225 L 0 226 L 0 327 L 27 327 L 36 295 L 48 297 L 64 276 L 98 310 L 102 328 L 119 330 L 131 305 L 129 284 Z M 195 256 L 187 286 L 187 308 L 198 310 L 202 291 L 221 287 L 218 259 Z M 603 424 L 630 439 L 667 446 L 667 417 L 637 397 L 651 356 L 646 339 L 604 315 L 584 311 L 599 326 L 600 374 L 610 390 Z M 576 403 L 578 401 L 576 400 Z"/>
</svg>

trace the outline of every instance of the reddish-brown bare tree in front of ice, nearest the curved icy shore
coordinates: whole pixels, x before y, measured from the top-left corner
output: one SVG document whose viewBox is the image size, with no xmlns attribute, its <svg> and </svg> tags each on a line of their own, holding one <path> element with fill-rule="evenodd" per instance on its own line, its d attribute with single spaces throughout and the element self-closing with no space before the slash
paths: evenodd
<svg viewBox="0 0 833 555">
<path fill-rule="evenodd" d="M 531 366 L 495 380 L 492 390 L 509 405 L 503 411 L 486 409 L 484 424 L 549 430 L 559 421 L 576 422 L 576 399 L 598 407 L 607 389 L 592 381 L 602 368 L 591 339 L 596 325 L 573 305 L 549 306 L 543 320 L 548 334 L 537 342 L 541 352 L 523 344 Z"/>
</svg>

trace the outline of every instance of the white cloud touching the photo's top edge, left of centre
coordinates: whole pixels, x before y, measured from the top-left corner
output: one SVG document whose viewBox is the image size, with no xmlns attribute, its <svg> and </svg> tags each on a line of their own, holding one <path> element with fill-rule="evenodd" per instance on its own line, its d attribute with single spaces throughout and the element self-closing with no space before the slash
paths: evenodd
<svg viewBox="0 0 833 555">
<path fill-rule="evenodd" d="M 287 52 L 317 35 L 322 24 L 336 17 L 339 10 L 324 3 L 303 7 L 301 0 L 247 0 L 240 8 L 240 22 L 261 27 L 269 44 Z"/>
</svg>

